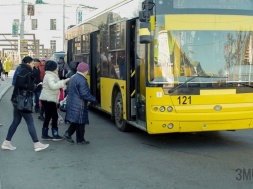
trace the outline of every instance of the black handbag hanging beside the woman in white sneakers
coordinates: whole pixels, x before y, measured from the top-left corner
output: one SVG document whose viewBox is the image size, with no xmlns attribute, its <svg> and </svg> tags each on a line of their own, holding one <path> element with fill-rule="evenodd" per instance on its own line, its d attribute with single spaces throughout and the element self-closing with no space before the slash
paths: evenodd
<svg viewBox="0 0 253 189">
<path fill-rule="evenodd" d="M 17 96 L 17 109 L 22 112 L 31 113 L 33 110 L 33 95 L 32 92 L 22 91 Z"/>
</svg>

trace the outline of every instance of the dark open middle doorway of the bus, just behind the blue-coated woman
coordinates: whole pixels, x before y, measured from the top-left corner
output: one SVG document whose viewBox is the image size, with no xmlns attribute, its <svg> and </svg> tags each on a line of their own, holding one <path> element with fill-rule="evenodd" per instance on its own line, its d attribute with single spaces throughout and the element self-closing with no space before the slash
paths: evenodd
<svg viewBox="0 0 253 189">
<path fill-rule="evenodd" d="M 90 34 L 90 91 L 100 103 L 100 34 L 99 31 Z"/>
</svg>

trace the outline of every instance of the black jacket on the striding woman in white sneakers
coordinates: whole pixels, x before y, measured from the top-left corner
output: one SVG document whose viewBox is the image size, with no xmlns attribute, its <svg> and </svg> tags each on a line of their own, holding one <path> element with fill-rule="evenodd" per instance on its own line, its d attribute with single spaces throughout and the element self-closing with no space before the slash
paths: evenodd
<svg viewBox="0 0 253 189">
<path fill-rule="evenodd" d="M 26 64 L 22 63 L 21 69 L 17 75 L 17 80 L 14 86 L 13 94 L 11 97 L 11 101 L 13 103 L 17 102 L 17 95 L 23 90 L 30 91 L 31 95 L 36 88 L 35 78 L 33 76 L 32 68 Z"/>
</svg>

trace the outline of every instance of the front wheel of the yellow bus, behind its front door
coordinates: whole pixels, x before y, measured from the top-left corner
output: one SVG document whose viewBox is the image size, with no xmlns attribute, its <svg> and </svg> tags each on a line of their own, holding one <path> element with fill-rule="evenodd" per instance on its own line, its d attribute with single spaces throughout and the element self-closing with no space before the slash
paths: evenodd
<svg viewBox="0 0 253 189">
<path fill-rule="evenodd" d="M 114 103 L 114 117 L 117 128 L 120 131 L 127 131 L 126 121 L 123 119 L 123 102 L 120 92 L 117 93 Z"/>
</svg>

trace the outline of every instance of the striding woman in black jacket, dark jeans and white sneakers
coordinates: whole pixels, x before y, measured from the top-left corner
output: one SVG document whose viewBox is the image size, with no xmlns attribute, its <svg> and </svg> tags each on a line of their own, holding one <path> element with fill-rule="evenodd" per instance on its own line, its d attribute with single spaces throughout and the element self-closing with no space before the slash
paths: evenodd
<svg viewBox="0 0 253 189">
<path fill-rule="evenodd" d="M 14 90 L 12 93 L 11 101 L 13 105 L 13 121 L 9 127 L 7 137 L 5 141 L 2 143 L 1 148 L 5 150 L 15 150 L 16 147 L 12 146 L 11 139 L 16 132 L 17 127 L 19 126 L 22 117 L 25 119 L 29 134 L 34 142 L 34 150 L 41 151 L 46 149 L 49 144 L 42 144 L 39 142 L 37 133 L 34 127 L 34 121 L 32 113 L 27 113 L 18 110 L 17 108 L 17 96 L 19 92 L 24 90 L 26 91 L 34 91 L 36 85 L 34 84 L 34 77 L 32 76 L 34 67 L 33 59 L 30 56 L 26 56 L 22 60 L 21 69 L 17 74 Z"/>
</svg>

